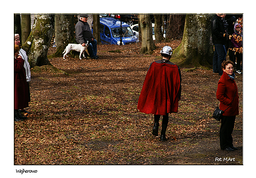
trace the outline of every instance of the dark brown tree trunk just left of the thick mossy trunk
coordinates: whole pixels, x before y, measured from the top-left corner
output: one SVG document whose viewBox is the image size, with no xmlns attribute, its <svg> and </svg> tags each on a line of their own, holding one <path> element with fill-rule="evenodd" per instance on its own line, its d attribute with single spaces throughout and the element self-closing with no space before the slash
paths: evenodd
<svg viewBox="0 0 256 178">
<path fill-rule="evenodd" d="M 166 38 L 181 39 L 184 32 L 186 15 L 169 15 Z"/>
</svg>

